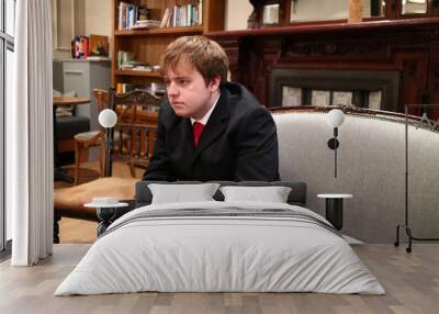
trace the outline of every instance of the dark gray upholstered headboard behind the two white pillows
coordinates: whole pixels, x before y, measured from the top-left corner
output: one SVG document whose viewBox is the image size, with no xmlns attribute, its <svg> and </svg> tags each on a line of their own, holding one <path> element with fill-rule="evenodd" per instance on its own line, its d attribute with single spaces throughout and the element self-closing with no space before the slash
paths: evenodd
<svg viewBox="0 0 439 314">
<path fill-rule="evenodd" d="M 139 181 L 136 183 L 136 208 L 148 205 L 153 200 L 153 194 L 148 189 L 149 183 L 162 183 L 162 184 L 193 184 L 202 183 L 200 181 L 178 181 L 178 182 L 161 182 L 161 181 Z M 241 187 L 270 187 L 270 186 L 281 186 L 291 188 L 291 192 L 288 197 L 286 202 L 292 205 L 305 206 L 306 205 L 306 183 L 304 182 L 291 182 L 291 181 L 275 181 L 275 182 L 263 182 L 263 181 L 215 181 L 221 186 L 241 186 Z M 214 199 L 217 201 L 224 201 L 223 193 L 217 190 Z"/>
</svg>

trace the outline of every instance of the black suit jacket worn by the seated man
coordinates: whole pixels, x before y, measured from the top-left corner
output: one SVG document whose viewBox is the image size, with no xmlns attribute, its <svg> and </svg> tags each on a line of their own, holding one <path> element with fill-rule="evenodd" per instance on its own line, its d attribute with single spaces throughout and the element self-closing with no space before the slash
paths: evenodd
<svg viewBox="0 0 439 314">
<path fill-rule="evenodd" d="M 154 156 L 144 180 L 279 180 L 278 135 L 271 114 L 241 85 L 226 83 L 193 145 L 190 119 L 168 102 L 158 114 Z"/>
</svg>

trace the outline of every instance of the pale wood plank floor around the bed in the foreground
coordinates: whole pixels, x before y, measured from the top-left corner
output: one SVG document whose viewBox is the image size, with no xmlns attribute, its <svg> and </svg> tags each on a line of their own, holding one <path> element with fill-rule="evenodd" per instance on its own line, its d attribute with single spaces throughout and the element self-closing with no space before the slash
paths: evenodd
<svg viewBox="0 0 439 314">
<path fill-rule="evenodd" d="M 392 245 L 354 250 L 386 295 L 318 293 L 132 293 L 53 296 L 90 245 L 55 245 L 54 255 L 30 268 L 0 265 L 0 313 L 439 313 L 439 245 L 416 244 L 412 254 Z"/>
</svg>

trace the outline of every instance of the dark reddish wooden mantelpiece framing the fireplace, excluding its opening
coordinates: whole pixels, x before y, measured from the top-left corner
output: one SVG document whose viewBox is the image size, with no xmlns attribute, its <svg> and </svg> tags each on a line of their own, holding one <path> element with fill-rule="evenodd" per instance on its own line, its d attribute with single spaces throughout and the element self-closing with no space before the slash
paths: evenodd
<svg viewBox="0 0 439 314">
<path fill-rule="evenodd" d="M 297 24 L 207 33 L 226 51 L 232 79 L 267 106 L 273 69 L 393 70 L 401 74 L 397 112 L 439 103 L 439 18 Z"/>
</svg>

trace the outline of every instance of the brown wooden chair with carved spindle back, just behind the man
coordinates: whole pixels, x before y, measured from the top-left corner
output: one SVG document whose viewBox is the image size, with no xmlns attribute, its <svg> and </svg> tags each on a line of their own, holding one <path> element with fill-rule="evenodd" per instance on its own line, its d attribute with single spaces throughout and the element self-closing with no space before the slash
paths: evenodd
<svg viewBox="0 0 439 314">
<path fill-rule="evenodd" d="M 112 136 L 115 147 L 119 147 L 119 156 L 127 159 L 133 178 L 135 177 L 135 167 L 146 168 L 153 156 L 158 119 L 156 109 L 161 102 L 161 98 L 148 91 L 135 90 L 119 94 L 114 89 L 110 90 L 110 108 L 119 116 Z M 126 149 L 123 148 L 123 134 L 130 135 Z"/>
</svg>

